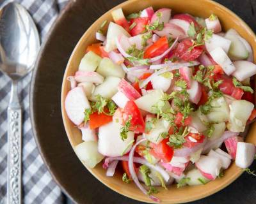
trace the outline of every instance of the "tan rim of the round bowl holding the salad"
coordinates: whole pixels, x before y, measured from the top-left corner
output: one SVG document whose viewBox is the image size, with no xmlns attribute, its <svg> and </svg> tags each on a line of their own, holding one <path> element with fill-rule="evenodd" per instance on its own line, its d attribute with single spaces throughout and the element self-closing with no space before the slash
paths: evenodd
<svg viewBox="0 0 256 204">
<path fill-rule="evenodd" d="M 116 8 L 122 8 L 123 6 L 127 5 L 127 4 L 132 4 L 132 3 L 135 3 L 135 2 L 138 2 L 138 1 L 141 1 L 141 0 L 127 0 L 127 1 L 124 1 L 123 3 L 120 3 L 120 4 L 117 4 L 115 7 L 111 8 L 110 10 L 106 11 L 100 18 L 98 18 L 97 20 L 95 20 L 95 22 L 93 22 L 93 24 L 97 23 L 97 22 L 102 22 L 102 20 L 104 20 L 104 18 L 106 18 L 106 15 L 108 15 L 111 11 L 113 10 L 116 10 Z M 190 0 L 191 1 L 191 0 Z M 196 0 L 193 0 L 193 1 L 196 1 Z M 239 22 L 241 22 L 241 24 L 243 24 L 245 30 L 250 33 L 253 38 L 255 39 L 256 41 L 256 34 L 253 32 L 253 30 L 250 28 L 250 26 L 248 24 L 246 24 L 246 22 L 244 22 L 244 20 L 242 18 L 240 18 L 238 15 L 236 15 L 236 13 L 234 13 L 232 10 L 228 9 L 227 7 L 223 6 L 222 4 L 216 2 L 216 1 L 213 1 L 213 0 L 201 0 L 201 1 L 204 1 L 205 3 L 211 3 L 213 4 L 214 6 L 216 6 L 217 8 L 221 8 L 222 10 L 224 10 L 226 13 L 228 13 L 228 15 L 230 15 L 231 17 L 235 17 L 239 20 Z M 68 133 L 68 128 L 67 128 L 67 120 L 65 120 L 65 117 L 64 117 L 64 113 L 65 113 L 65 105 L 64 105 L 64 101 L 65 101 L 65 94 L 64 94 L 64 87 L 65 87 L 65 84 L 67 82 L 65 82 L 65 78 L 67 78 L 67 70 L 68 68 L 70 67 L 70 62 L 72 61 L 72 58 L 74 56 L 74 54 L 76 53 L 76 50 L 77 48 L 79 47 L 81 41 L 83 40 L 84 36 L 86 36 L 88 33 L 90 33 L 90 30 L 92 29 L 93 27 L 93 24 L 90 25 L 90 27 L 88 27 L 88 29 L 86 29 L 86 32 L 83 34 L 83 36 L 81 36 L 80 40 L 77 42 L 76 44 L 76 47 L 74 47 L 74 50 L 72 51 L 72 54 L 70 55 L 70 58 L 68 59 L 68 63 L 67 63 L 67 67 L 65 68 L 65 74 L 63 76 L 63 82 L 62 82 L 62 85 L 61 85 L 61 115 L 62 115 L 62 119 L 63 119 L 63 124 L 64 124 L 64 127 L 65 127 L 65 131 L 67 133 L 67 137 L 68 137 L 68 140 L 70 142 L 70 145 L 72 146 L 72 149 L 74 150 L 74 147 L 72 145 L 72 142 L 70 140 L 70 136 L 69 136 L 69 133 Z M 77 157 L 77 159 L 79 160 L 79 158 Z M 232 161 L 232 163 L 234 163 L 234 161 Z M 84 164 L 83 164 L 84 165 Z M 95 177 L 97 180 L 99 180 L 102 184 L 104 184 L 105 186 L 109 187 L 111 190 L 115 191 L 116 193 L 118 194 L 122 194 L 123 196 L 126 196 L 128 198 L 131 198 L 133 200 L 138 200 L 138 201 L 142 201 L 142 202 L 145 202 L 145 203 L 154 203 L 153 201 L 150 201 L 150 200 L 144 200 L 144 199 L 140 199 L 138 197 L 134 198 L 132 196 L 129 196 L 127 194 L 124 194 L 122 193 L 121 191 L 119 191 L 118 189 L 116 189 L 116 187 L 113 187 L 109 184 L 109 182 L 104 182 L 102 180 L 100 180 L 99 177 L 97 177 L 97 175 L 95 173 L 93 173 L 93 170 L 88 168 L 86 165 L 84 165 L 86 167 L 86 169 L 92 173 L 93 177 Z M 204 194 L 200 194 L 200 196 L 197 196 L 197 195 L 193 195 L 191 196 L 190 198 L 186 199 L 186 200 L 182 200 L 182 201 L 179 201 L 179 203 L 187 203 L 189 201 L 196 201 L 196 200 L 200 200 L 202 198 L 205 198 L 207 196 L 211 196 L 212 194 L 214 193 L 217 193 L 218 191 L 221 191 L 221 189 L 224 189 L 225 187 L 227 187 L 228 185 L 230 185 L 232 182 L 234 182 L 234 180 L 236 180 L 238 177 L 240 177 L 242 175 L 244 171 L 243 170 L 238 170 L 236 171 L 236 173 L 234 173 L 234 175 L 232 175 L 232 177 L 230 177 L 230 179 L 223 183 L 222 185 L 216 187 L 215 189 L 212 189 L 210 192 L 207 192 L 207 193 L 204 193 Z M 147 199 L 147 196 L 145 196 L 145 198 Z M 165 203 L 165 202 L 164 202 Z M 175 201 L 173 202 L 168 202 L 168 203 L 176 203 Z"/>
</svg>

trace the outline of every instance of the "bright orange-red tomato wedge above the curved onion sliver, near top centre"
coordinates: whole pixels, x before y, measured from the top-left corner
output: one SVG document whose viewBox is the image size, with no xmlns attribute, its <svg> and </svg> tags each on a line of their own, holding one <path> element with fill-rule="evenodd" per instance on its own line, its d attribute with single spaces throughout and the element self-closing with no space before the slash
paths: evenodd
<svg viewBox="0 0 256 204">
<path fill-rule="evenodd" d="M 168 38 L 166 36 L 159 38 L 153 45 L 145 50 L 144 58 L 152 58 L 163 54 L 169 48 Z"/>
</svg>

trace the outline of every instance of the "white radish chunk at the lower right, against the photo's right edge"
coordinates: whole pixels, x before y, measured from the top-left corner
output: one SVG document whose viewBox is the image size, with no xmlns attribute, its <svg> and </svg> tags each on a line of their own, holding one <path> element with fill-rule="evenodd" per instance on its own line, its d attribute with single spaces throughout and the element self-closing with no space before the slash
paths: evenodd
<svg viewBox="0 0 256 204">
<path fill-rule="evenodd" d="M 248 168 L 255 158 L 255 145 L 252 143 L 237 143 L 236 166 Z"/>
</svg>

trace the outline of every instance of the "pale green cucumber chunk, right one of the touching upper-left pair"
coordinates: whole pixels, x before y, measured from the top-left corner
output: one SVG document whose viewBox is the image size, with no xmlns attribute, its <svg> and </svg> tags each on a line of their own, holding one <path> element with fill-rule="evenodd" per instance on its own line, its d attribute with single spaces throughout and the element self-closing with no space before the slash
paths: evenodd
<svg viewBox="0 0 256 204">
<path fill-rule="evenodd" d="M 99 68 L 97 68 L 96 71 L 103 77 L 124 78 L 125 76 L 125 72 L 122 67 L 113 63 L 113 61 L 107 57 L 104 57 L 102 61 L 100 61 Z"/>
</svg>

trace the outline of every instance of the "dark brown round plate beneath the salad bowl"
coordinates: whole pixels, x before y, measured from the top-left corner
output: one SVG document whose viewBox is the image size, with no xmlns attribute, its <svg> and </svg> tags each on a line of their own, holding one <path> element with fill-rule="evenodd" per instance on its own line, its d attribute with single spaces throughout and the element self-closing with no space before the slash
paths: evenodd
<svg viewBox="0 0 256 204">
<path fill-rule="evenodd" d="M 61 82 L 77 41 L 100 15 L 121 2 L 71 1 L 42 47 L 33 73 L 31 120 L 36 142 L 56 182 L 77 203 L 139 203 L 111 191 L 84 168 L 68 142 L 60 109 Z M 256 27 L 250 0 L 243 1 L 243 4 L 239 0 L 236 4 L 234 0 L 220 2 L 226 2 L 225 6 L 233 11 L 236 8 L 237 14 L 244 17 L 250 26 Z M 220 193 L 194 203 L 255 203 L 253 180 L 244 174 Z"/>
</svg>

